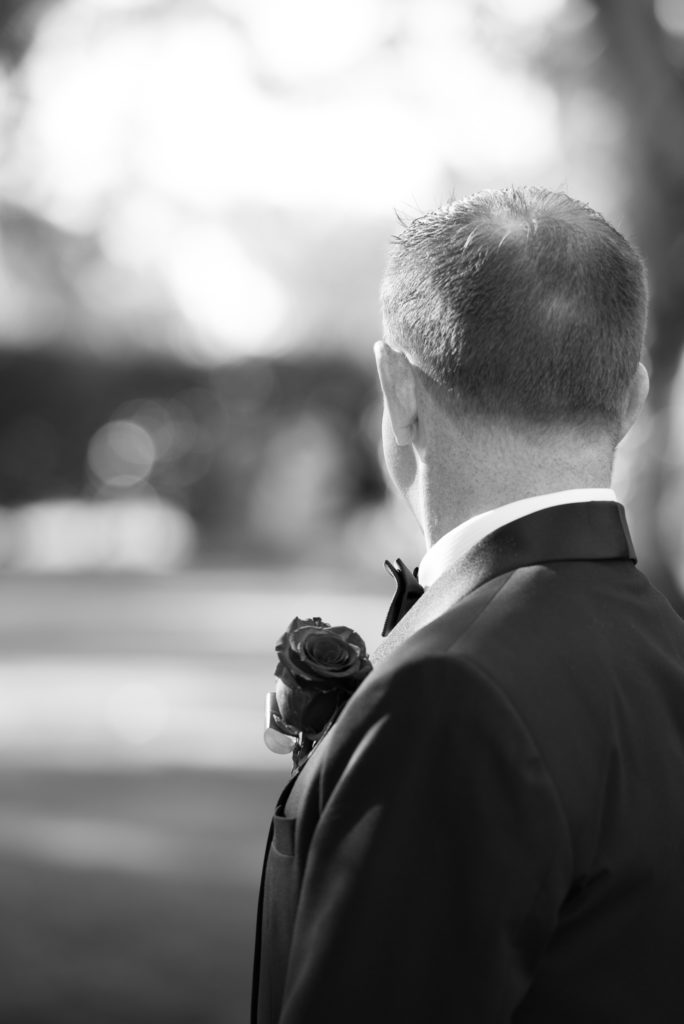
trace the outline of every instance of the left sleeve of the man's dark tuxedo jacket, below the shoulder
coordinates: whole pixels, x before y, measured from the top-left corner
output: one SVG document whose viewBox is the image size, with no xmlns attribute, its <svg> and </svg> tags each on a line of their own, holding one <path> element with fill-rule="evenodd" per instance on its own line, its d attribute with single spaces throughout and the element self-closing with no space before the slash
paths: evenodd
<svg viewBox="0 0 684 1024">
<path fill-rule="evenodd" d="M 280 1024 L 510 1021 L 571 880 L 524 724 L 444 655 L 371 677 L 339 727 Z"/>
</svg>

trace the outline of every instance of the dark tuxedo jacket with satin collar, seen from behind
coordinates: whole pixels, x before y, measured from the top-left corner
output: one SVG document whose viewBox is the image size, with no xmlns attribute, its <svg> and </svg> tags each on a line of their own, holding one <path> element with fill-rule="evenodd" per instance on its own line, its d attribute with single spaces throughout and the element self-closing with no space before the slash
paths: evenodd
<svg viewBox="0 0 684 1024">
<path fill-rule="evenodd" d="M 273 818 L 258 1024 L 681 1024 L 684 624 L 623 509 L 489 535 Z"/>
</svg>

